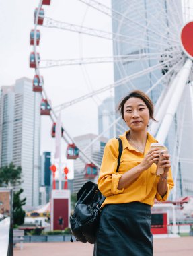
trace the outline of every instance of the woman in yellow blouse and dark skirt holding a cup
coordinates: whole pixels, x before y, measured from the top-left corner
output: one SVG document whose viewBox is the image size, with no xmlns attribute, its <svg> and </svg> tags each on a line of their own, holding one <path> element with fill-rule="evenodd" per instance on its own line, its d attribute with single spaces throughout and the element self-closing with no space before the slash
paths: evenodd
<svg viewBox="0 0 193 256">
<path fill-rule="evenodd" d="M 157 142 L 147 132 L 153 117 L 153 103 L 141 91 L 126 96 L 118 108 L 130 130 L 120 136 L 122 156 L 116 172 L 118 140 L 106 144 L 98 187 L 106 197 L 100 217 L 95 256 L 153 255 L 151 207 L 155 198 L 165 201 L 173 187 L 169 154 L 159 166 L 165 168 L 156 175 L 159 148 L 150 150 Z"/>
</svg>

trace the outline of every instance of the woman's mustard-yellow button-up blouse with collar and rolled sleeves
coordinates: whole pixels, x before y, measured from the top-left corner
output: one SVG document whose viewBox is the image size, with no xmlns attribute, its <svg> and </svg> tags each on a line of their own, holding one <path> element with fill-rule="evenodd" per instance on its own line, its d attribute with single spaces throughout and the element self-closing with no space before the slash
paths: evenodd
<svg viewBox="0 0 193 256">
<path fill-rule="evenodd" d="M 128 143 L 128 140 L 126 139 L 126 134 L 128 132 L 129 131 L 126 131 L 124 135 L 120 136 L 120 139 L 122 140 L 122 156 L 117 173 L 118 139 L 110 139 L 105 146 L 98 179 L 98 187 L 102 195 L 107 197 L 103 206 L 110 203 L 130 203 L 132 201 L 139 201 L 153 206 L 155 198 L 158 201 L 167 200 L 169 192 L 174 185 L 171 170 L 168 172 L 167 193 L 161 197 L 157 192 L 159 176 L 155 174 L 156 164 L 152 164 L 149 169 L 143 171 L 132 184 L 122 189 L 118 189 L 118 182 L 122 174 L 140 164 L 144 156 L 150 150 L 151 143 L 157 142 L 154 137 L 147 133 L 147 143 L 143 154 Z"/>
</svg>

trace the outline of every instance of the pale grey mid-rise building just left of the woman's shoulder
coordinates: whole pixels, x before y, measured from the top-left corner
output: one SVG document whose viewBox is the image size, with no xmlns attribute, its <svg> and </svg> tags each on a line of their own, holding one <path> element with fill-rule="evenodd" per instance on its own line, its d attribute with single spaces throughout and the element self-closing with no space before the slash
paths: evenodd
<svg viewBox="0 0 193 256">
<path fill-rule="evenodd" d="M 78 137 L 75 137 L 75 142 L 77 145 L 80 146 L 80 148 L 86 148 L 98 135 L 94 134 L 85 134 Z M 89 156 L 89 158 L 93 159 L 98 164 L 101 164 L 102 162 L 102 156 L 104 152 L 104 146 L 106 145 L 106 142 L 108 139 L 105 137 L 100 137 L 98 139 L 98 142 L 93 143 L 92 146 L 87 148 L 85 151 L 85 154 Z M 79 189 L 82 187 L 82 185 L 87 181 L 97 181 L 98 177 L 95 177 L 95 179 L 86 179 L 85 178 L 85 163 L 82 162 L 79 158 L 77 158 L 74 162 L 74 179 L 73 179 L 73 193 L 77 193 Z"/>
</svg>

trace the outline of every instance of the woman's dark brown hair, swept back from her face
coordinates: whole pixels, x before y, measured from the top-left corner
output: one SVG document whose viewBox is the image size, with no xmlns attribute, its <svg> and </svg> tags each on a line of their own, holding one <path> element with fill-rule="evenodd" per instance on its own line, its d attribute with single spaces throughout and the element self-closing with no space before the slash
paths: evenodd
<svg viewBox="0 0 193 256">
<path fill-rule="evenodd" d="M 147 94 L 145 94 L 144 92 L 142 92 L 140 90 L 135 90 L 135 91 L 130 92 L 130 94 L 128 94 L 126 97 L 124 97 L 122 99 L 122 101 L 120 102 L 120 104 L 118 106 L 118 110 L 120 111 L 123 120 L 124 120 L 124 104 L 126 103 L 126 101 L 129 98 L 140 98 L 141 100 L 143 100 L 143 102 L 146 104 L 147 108 L 149 109 L 149 116 L 154 121 L 157 121 L 153 117 L 153 111 L 154 111 L 153 102 L 150 100 L 150 98 L 147 96 Z"/>
</svg>

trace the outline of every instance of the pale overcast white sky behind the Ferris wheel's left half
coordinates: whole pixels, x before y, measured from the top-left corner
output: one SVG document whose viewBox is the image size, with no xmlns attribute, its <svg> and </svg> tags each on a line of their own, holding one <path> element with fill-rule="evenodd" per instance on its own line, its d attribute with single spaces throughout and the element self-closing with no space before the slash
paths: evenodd
<svg viewBox="0 0 193 256">
<path fill-rule="evenodd" d="M 109 0 L 102 1 L 110 5 Z M 34 69 L 29 68 L 30 30 L 34 28 L 34 9 L 38 0 L 0 0 L 0 86 L 9 86 L 16 79 L 33 79 Z M 112 29 L 110 18 L 87 7 L 78 0 L 52 0 L 44 5 L 46 17 L 61 22 L 88 26 L 108 32 Z M 41 39 L 40 59 L 73 59 L 81 57 L 112 56 L 112 42 L 101 38 L 82 36 L 56 28 L 39 26 Z M 52 106 L 68 102 L 113 82 L 113 66 L 92 64 L 86 67 L 52 67 L 41 69 L 44 86 Z M 113 91 L 71 106 L 63 111 L 62 123 L 74 137 L 85 133 L 98 133 L 98 105 Z M 41 117 L 41 152 L 54 151 L 55 142 L 50 137 L 52 122 Z M 62 146 L 65 151 L 65 144 Z"/>
</svg>

